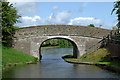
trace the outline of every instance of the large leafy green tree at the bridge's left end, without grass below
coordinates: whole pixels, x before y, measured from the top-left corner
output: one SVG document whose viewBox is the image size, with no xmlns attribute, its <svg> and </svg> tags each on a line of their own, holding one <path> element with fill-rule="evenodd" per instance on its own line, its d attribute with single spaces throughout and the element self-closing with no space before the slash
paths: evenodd
<svg viewBox="0 0 120 80">
<path fill-rule="evenodd" d="M 15 23 L 20 22 L 18 18 L 21 16 L 17 13 L 13 4 L 2 2 L 2 44 L 5 46 L 11 46 L 14 32 L 18 29 L 18 27 L 14 26 Z"/>
</svg>

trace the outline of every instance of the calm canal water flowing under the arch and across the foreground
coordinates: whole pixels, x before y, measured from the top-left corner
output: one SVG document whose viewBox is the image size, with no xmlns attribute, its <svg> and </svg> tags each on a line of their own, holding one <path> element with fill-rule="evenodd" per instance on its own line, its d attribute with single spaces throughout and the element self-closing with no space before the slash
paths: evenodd
<svg viewBox="0 0 120 80">
<path fill-rule="evenodd" d="M 42 50 L 38 64 L 17 66 L 3 73 L 5 78 L 120 78 L 120 74 L 94 65 L 64 62 L 61 56 L 72 54 L 72 48 Z"/>
</svg>

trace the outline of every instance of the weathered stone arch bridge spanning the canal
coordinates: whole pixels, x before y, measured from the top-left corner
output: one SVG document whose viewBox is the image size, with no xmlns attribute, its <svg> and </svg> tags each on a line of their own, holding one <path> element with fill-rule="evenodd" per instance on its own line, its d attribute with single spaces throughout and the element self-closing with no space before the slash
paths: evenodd
<svg viewBox="0 0 120 80">
<path fill-rule="evenodd" d="M 79 58 L 112 30 L 74 25 L 42 25 L 23 27 L 15 32 L 12 47 L 39 58 L 41 44 L 48 39 L 67 39 L 73 45 L 73 55 Z M 97 47 L 100 47 L 99 44 Z"/>
</svg>

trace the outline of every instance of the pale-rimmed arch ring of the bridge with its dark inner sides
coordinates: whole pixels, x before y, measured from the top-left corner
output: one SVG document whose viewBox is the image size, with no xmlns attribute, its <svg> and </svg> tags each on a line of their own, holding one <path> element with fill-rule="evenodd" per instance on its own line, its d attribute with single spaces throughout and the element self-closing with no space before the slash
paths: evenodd
<svg viewBox="0 0 120 80">
<path fill-rule="evenodd" d="M 73 39 L 69 38 L 68 36 L 50 36 L 47 39 L 44 39 L 40 43 L 40 47 L 39 47 L 39 59 L 41 59 L 41 56 L 42 56 L 42 54 L 41 54 L 41 46 L 42 46 L 42 44 L 44 42 L 46 42 L 47 40 L 51 40 L 51 39 L 65 39 L 65 40 L 68 40 L 72 44 L 72 46 L 73 46 L 73 57 L 74 58 L 78 57 L 78 55 L 79 55 L 78 45 L 77 45 L 77 43 Z"/>
</svg>

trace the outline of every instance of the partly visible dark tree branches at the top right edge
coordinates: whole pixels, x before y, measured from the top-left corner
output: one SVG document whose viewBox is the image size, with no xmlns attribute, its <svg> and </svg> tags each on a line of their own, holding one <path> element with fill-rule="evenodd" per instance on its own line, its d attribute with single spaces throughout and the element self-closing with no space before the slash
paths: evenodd
<svg viewBox="0 0 120 80">
<path fill-rule="evenodd" d="M 112 10 L 112 12 L 111 12 L 111 14 L 113 14 L 113 12 L 114 11 L 116 11 L 116 14 L 117 14 L 117 17 L 118 17 L 118 23 L 117 23 L 117 32 L 119 33 L 119 31 L 120 31 L 120 1 L 116 1 L 116 2 L 114 2 L 114 8 L 113 8 L 113 10 Z"/>
</svg>

